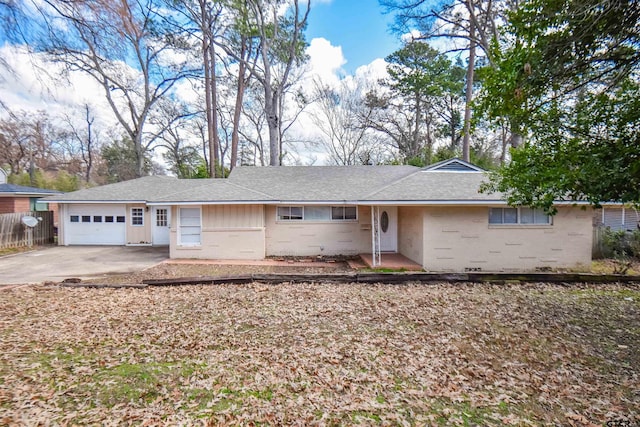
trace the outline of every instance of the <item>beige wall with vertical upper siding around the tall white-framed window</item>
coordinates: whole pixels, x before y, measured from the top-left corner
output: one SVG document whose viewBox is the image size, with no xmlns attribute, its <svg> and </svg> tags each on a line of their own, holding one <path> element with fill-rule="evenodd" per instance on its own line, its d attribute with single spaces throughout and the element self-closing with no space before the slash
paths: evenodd
<svg viewBox="0 0 640 427">
<path fill-rule="evenodd" d="M 201 208 L 200 246 L 179 246 L 179 208 L 172 207 L 171 258 L 263 259 L 264 209 L 261 205 L 209 205 Z"/>
</svg>

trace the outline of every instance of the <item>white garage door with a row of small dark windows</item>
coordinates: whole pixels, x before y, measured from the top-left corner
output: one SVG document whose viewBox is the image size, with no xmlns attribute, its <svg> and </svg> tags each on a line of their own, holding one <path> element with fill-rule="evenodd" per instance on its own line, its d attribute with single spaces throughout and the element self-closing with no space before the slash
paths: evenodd
<svg viewBox="0 0 640 427">
<path fill-rule="evenodd" d="M 69 205 L 65 215 L 67 245 L 124 245 L 125 205 Z"/>
</svg>

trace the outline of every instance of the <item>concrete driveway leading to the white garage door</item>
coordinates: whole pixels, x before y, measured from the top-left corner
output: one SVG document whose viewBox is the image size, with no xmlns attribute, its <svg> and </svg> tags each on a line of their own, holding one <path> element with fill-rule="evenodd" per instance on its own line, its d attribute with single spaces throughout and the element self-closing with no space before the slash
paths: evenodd
<svg viewBox="0 0 640 427">
<path fill-rule="evenodd" d="M 0 285 L 133 273 L 169 258 L 169 247 L 54 246 L 0 257 Z"/>
</svg>

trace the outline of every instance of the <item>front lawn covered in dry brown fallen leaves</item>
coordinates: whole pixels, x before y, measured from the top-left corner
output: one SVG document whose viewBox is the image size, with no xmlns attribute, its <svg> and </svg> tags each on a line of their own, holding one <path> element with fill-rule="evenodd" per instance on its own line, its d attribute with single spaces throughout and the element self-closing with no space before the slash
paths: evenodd
<svg viewBox="0 0 640 427">
<path fill-rule="evenodd" d="M 2 425 L 640 420 L 635 285 L 21 287 Z"/>
</svg>

